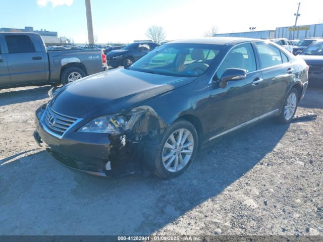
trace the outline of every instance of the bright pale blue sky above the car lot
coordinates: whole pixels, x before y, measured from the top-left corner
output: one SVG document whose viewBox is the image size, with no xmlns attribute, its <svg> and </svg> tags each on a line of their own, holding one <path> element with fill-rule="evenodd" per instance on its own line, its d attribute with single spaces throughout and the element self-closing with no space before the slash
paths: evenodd
<svg viewBox="0 0 323 242">
<path fill-rule="evenodd" d="M 0 27 L 57 31 L 76 43 L 87 40 L 84 0 L 2 0 Z M 150 25 L 164 27 L 167 39 L 199 38 L 217 25 L 220 33 L 275 29 L 294 24 L 294 0 L 92 0 L 99 43 L 146 39 Z M 302 1 L 298 25 L 323 23 L 323 1 Z"/>
</svg>

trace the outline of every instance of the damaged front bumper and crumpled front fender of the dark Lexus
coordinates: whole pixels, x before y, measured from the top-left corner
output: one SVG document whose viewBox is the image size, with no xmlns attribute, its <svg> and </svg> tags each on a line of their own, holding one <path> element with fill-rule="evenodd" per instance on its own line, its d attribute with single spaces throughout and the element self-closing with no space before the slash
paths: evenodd
<svg viewBox="0 0 323 242">
<path fill-rule="evenodd" d="M 126 122 L 113 118 L 115 134 L 68 131 L 61 138 L 46 132 L 42 122 L 46 105 L 36 111 L 34 138 L 61 164 L 76 170 L 100 176 L 121 176 L 144 171 L 145 150 L 168 126 L 150 106 L 133 108 Z M 80 127 L 78 127 L 79 129 Z"/>
</svg>

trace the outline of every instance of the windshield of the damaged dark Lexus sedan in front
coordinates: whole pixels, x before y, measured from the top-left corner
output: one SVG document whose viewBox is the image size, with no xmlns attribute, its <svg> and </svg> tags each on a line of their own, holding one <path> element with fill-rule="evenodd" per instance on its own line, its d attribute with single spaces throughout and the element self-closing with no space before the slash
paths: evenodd
<svg viewBox="0 0 323 242">
<path fill-rule="evenodd" d="M 216 59 L 222 45 L 165 44 L 135 62 L 130 70 L 168 76 L 202 75 Z"/>
</svg>

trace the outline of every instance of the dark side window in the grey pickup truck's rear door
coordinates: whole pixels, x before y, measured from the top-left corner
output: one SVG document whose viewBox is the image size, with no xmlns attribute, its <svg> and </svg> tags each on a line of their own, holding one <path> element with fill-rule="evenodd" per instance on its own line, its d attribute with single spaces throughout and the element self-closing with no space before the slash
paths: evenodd
<svg viewBox="0 0 323 242">
<path fill-rule="evenodd" d="M 27 35 L 7 35 L 6 42 L 9 53 L 35 52 L 35 47 Z"/>
</svg>

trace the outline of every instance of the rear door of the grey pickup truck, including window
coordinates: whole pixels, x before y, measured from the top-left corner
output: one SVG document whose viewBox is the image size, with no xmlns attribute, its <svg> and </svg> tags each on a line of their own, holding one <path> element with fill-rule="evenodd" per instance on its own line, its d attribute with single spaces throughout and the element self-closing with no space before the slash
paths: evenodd
<svg viewBox="0 0 323 242">
<path fill-rule="evenodd" d="M 8 49 L 7 61 L 12 85 L 45 81 L 45 61 L 38 42 L 28 34 L 4 34 Z"/>
</svg>

